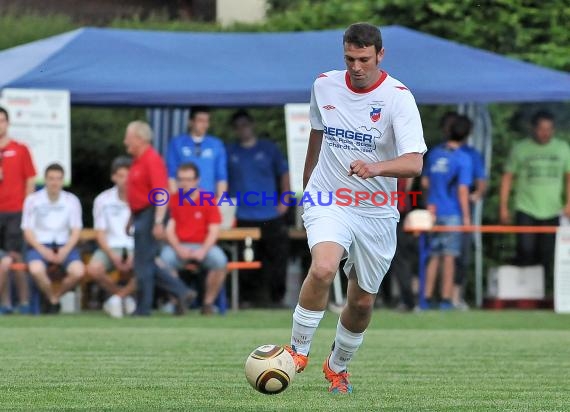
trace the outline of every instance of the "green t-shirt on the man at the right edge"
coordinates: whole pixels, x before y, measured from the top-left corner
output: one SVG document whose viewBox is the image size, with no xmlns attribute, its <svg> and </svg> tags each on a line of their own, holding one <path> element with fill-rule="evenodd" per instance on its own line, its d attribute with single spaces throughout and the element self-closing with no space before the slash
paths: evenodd
<svg viewBox="0 0 570 412">
<path fill-rule="evenodd" d="M 513 147 L 505 172 L 515 175 L 515 210 L 537 219 L 553 218 L 566 200 L 570 147 L 558 139 L 544 145 L 526 139 Z"/>
</svg>

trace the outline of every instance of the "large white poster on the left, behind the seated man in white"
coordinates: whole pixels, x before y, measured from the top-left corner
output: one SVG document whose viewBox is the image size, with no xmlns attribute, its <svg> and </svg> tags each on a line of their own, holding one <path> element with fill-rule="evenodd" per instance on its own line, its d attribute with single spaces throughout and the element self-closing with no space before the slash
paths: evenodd
<svg viewBox="0 0 570 412">
<path fill-rule="evenodd" d="M 4 89 L 0 105 L 10 114 L 10 137 L 30 149 L 37 183 L 44 181 L 50 163 L 65 169 L 65 184 L 71 183 L 71 121 L 67 90 Z"/>
</svg>

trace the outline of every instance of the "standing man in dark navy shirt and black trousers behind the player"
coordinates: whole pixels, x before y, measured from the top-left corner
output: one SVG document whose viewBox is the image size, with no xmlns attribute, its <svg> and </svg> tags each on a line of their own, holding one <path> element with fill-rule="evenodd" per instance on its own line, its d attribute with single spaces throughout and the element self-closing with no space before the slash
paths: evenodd
<svg viewBox="0 0 570 412">
<path fill-rule="evenodd" d="M 275 143 L 257 138 L 248 112 L 236 112 L 232 126 L 238 142 L 227 148 L 228 176 L 230 196 L 241 198 L 236 212 L 237 226 L 261 229 L 256 256 L 262 268 L 257 276 L 254 273 L 240 276 L 243 285 L 240 290 L 244 291 L 244 300 L 256 306 L 280 306 L 285 295 L 289 255 L 285 222 L 288 199 L 281 202 L 281 194 L 290 190 L 289 168 Z M 246 192 L 252 194 L 246 198 Z"/>
</svg>

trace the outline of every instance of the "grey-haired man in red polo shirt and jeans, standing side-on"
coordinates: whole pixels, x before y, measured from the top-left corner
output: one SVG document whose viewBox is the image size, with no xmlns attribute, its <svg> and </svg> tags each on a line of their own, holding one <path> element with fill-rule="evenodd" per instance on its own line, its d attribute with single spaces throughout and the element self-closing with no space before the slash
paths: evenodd
<svg viewBox="0 0 570 412">
<path fill-rule="evenodd" d="M 178 298 L 178 313 L 182 314 L 196 297 L 196 292 L 156 263 L 159 241 L 164 238 L 168 202 L 164 196 L 168 196 L 168 179 L 164 160 L 151 146 L 151 141 L 152 130 L 147 123 L 129 123 L 124 143 L 134 158 L 127 180 L 127 201 L 135 231 L 134 269 L 138 302 L 135 315 L 150 315 L 155 284 Z"/>
</svg>

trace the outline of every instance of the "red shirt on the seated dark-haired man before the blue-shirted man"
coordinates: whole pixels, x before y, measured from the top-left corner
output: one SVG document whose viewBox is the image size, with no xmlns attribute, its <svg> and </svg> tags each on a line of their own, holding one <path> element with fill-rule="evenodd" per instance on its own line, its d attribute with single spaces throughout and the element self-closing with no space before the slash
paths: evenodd
<svg viewBox="0 0 570 412">
<path fill-rule="evenodd" d="M 176 236 L 181 242 L 204 243 L 208 235 L 208 226 L 222 223 L 222 216 L 215 201 L 200 202 L 200 197 L 193 205 L 186 200 L 179 205 L 178 193 L 170 198 L 170 215 L 176 222 Z"/>
</svg>

